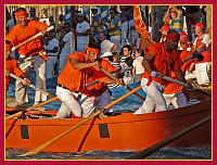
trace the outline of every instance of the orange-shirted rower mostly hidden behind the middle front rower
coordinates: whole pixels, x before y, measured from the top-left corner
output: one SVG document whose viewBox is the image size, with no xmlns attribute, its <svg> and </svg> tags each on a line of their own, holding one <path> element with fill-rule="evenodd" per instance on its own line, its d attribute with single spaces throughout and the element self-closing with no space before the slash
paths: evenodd
<svg viewBox="0 0 217 165">
<path fill-rule="evenodd" d="M 117 78 L 119 78 L 119 81 L 115 81 L 115 84 L 124 85 L 123 76 L 119 71 L 113 66 L 107 60 L 104 58 L 100 61 L 100 67 L 106 69 L 111 74 L 115 74 Z M 102 78 L 107 77 L 103 72 L 100 69 L 94 69 L 92 77 L 88 78 L 88 82 L 92 82 L 94 80 L 100 80 Z M 81 98 L 82 100 L 86 100 L 88 97 L 88 100 L 82 102 L 81 106 L 84 110 L 84 116 L 89 116 L 93 111 L 97 111 L 98 109 L 103 109 L 105 105 L 111 103 L 111 91 L 108 90 L 107 84 L 114 84 L 113 79 L 107 79 L 106 82 L 103 80 L 100 80 L 100 82 L 92 85 L 88 88 L 86 88 L 82 93 L 86 96 L 86 98 Z M 104 114 L 106 115 L 113 115 L 114 111 L 112 109 L 107 109 L 104 111 Z"/>
</svg>

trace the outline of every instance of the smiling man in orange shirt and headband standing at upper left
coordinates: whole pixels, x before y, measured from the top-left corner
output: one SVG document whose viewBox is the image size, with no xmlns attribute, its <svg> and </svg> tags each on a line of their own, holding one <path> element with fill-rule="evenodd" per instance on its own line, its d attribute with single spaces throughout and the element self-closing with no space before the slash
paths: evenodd
<svg viewBox="0 0 217 165">
<path fill-rule="evenodd" d="M 7 35 L 5 40 L 8 45 L 15 47 L 38 33 L 46 34 L 47 24 L 28 20 L 24 8 L 16 9 L 15 16 L 18 24 Z M 46 90 L 46 58 L 42 54 L 43 48 L 41 38 L 33 39 L 21 46 L 17 50 L 20 54 L 18 64 L 25 76 L 29 77 L 31 68 L 34 68 L 37 75 L 36 87 Z M 8 51 L 10 52 L 11 50 Z M 25 105 L 25 103 L 28 102 L 28 87 L 23 86 L 20 81 L 16 81 L 15 85 L 15 98 L 17 102 L 13 103 L 11 106 Z M 35 104 L 46 100 L 46 94 L 36 91 Z"/>
</svg>

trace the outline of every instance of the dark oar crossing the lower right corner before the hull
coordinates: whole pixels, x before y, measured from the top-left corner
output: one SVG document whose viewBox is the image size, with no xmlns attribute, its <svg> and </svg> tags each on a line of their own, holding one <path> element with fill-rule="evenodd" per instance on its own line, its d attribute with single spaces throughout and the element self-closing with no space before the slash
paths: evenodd
<svg viewBox="0 0 217 165">
<path fill-rule="evenodd" d="M 210 119 L 212 119 L 210 116 L 205 117 L 205 118 L 201 119 L 200 122 L 196 122 L 193 125 L 182 129 L 181 131 L 170 136 L 169 138 L 164 139 L 163 141 L 157 142 L 156 144 L 138 152 L 137 154 L 128 157 L 127 160 L 142 160 L 142 158 L 145 158 L 146 156 L 149 156 L 152 153 L 156 152 L 161 148 L 163 148 L 163 147 L 167 145 L 168 143 L 173 142 L 174 140 L 184 136 L 186 134 L 190 132 L 191 130 L 204 125 L 205 123 L 209 122 Z"/>
</svg>

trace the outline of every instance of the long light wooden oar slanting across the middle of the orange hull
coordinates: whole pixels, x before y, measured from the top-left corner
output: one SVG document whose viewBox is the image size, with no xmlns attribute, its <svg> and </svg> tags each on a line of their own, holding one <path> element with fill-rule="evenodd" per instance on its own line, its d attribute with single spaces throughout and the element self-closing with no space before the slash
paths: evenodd
<svg viewBox="0 0 217 165">
<path fill-rule="evenodd" d="M 90 115 L 89 117 L 82 119 L 81 122 L 79 122 L 78 124 L 72 126 L 71 128 L 68 128 L 67 130 L 65 130 L 64 132 L 62 132 L 61 135 L 54 137 L 53 139 L 42 143 L 41 145 L 35 148 L 34 150 L 21 155 L 21 156 L 27 156 L 27 155 L 33 155 L 33 154 L 37 154 L 38 152 L 42 151 L 43 149 L 46 149 L 47 147 L 49 147 L 50 144 L 52 144 L 53 142 L 55 142 L 56 140 L 61 139 L 62 137 L 64 137 L 65 135 L 67 135 L 68 132 L 71 132 L 72 130 L 78 128 L 79 126 L 81 126 L 82 124 L 85 124 L 86 122 L 92 119 L 93 117 L 98 116 L 99 114 L 103 113 L 104 110 L 112 107 L 113 105 L 117 104 L 118 102 L 120 102 L 122 100 L 124 100 L 125 98 L 129 97 L 130 94 L 132 94 L 133 92 L 140 90 L 142 87 L 139 86 L 135 89 L 132 89 L 130 92 L 126 93 L 125 96 L 122 96 L 120 98 L 118 98 L 117 100 L 111 102 L 110 104 L 107 104 L 106 106 L 104 106 L 104 109 L 101 109 L 99 111 L 97 111 L 95 113 L 93 113 L 92 115 Z"/>
</svg>

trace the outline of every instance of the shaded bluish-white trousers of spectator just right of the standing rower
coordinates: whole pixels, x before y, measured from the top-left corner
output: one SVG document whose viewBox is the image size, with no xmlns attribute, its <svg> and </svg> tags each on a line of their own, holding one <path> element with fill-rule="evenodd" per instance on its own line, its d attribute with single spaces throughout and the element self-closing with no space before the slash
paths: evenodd
<svg viewBox="0 0 217 165">
<path fill-rule="evenodd" d="M 58 56 L 49 56 L 50 61 L 46 62 L 46 78 L 54 76 L 54 67 L 58 62 Z"/>
</svg>

